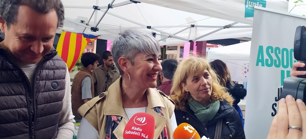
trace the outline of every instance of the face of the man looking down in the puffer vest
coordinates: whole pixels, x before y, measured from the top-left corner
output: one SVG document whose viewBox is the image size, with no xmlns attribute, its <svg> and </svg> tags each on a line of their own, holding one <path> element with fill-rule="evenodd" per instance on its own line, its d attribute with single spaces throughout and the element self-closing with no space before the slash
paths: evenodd
<svg viewBox="0 0 306 139">
<path fill-rule="evenodd" d="M 28 6 L 19 6 L 17 20 L 9 28 L 0 20 L 5 46 L 17 62 L 34 64 L 53 47 L 58 17 L 55 10 L 41 14 Z"/>
</svg>

